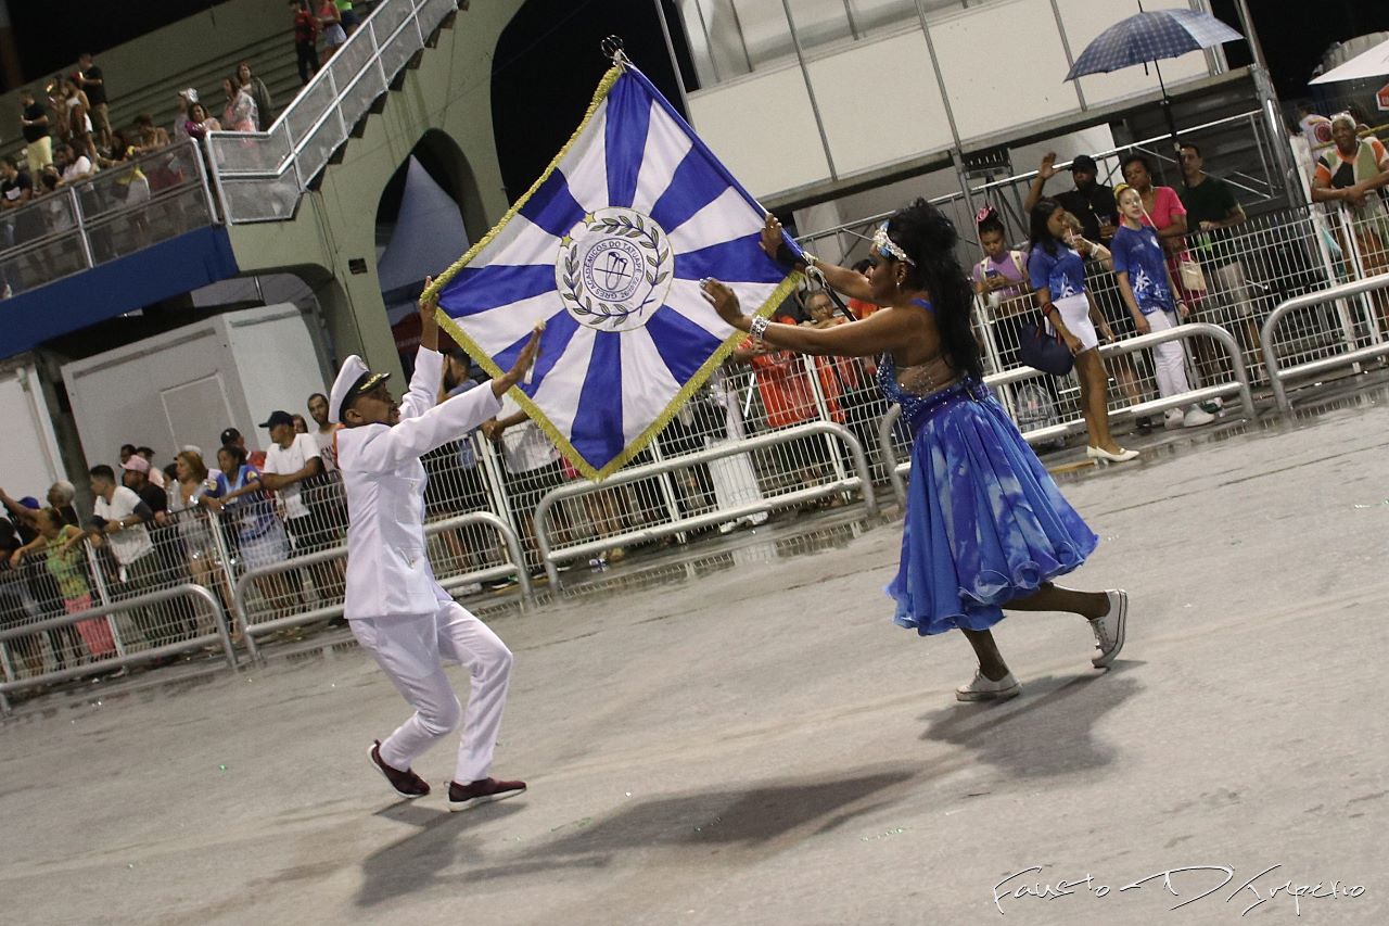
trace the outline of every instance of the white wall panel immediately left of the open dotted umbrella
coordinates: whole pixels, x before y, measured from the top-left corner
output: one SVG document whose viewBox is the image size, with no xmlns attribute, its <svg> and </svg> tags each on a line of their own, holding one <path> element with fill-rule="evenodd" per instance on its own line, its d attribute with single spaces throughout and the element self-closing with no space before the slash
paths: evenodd
<svg viewBox="0 0 1389 926">
<path fill-rule="evenodd" d="M 931 40 L 965 142 L 1079 107 L 1050 3 L 970 8 L 932 24 Z"/>
</svg>

